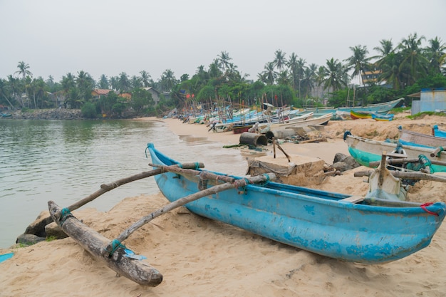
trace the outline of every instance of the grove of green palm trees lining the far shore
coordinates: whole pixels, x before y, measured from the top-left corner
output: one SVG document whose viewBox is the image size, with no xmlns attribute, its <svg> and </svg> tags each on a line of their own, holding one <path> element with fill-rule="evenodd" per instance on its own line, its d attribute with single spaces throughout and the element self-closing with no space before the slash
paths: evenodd
<svg viewBox="0 0 446 297">
<path fill-rule="evenodd" d="M 51 75 L 33 77 L 31 66 L 19 61 L 15 73 L 0 78 L 0 110 L 67 108 L 80 109 L 85 118 L 131 118 L 162 116 L 173 108 L 178 113 L 212 109 L 217 104 L 336 108 L 383 103 L 421 89 L 446 87 L 446 44 L 440 38 L 413 33 L 399 43 L 381 40 L 373 48 L 376 56 L 370 56 L 366 46 L 350 50 L 350 57 L 328 58 L 318 66 L 278 49 L 255 79 L 242 75 L 226 51 L 209 66 L 197 66 L 192 76 L 177 78 L 167 69 L 156 81 L 150 70 L 131 77 L 125 72 L 103 74 L 98 80 L 78 71 L 54 81 Z M 108 91 L 98 95 L 95 90 Z M 149 90 L 156 92 L 156 101 Z"/>
</svg>

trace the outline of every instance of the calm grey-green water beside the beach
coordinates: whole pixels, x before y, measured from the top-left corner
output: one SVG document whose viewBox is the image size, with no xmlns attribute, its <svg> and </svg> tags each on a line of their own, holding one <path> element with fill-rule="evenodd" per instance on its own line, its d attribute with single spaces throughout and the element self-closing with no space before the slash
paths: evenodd
<svg viewBox="0 0 446 297">
<path fill-rule="evenodd" d="M 204 162 L 209 170 L 232 174 L 246 170 L 237 150 L 206 138 L 174 135 L 162 122 L 0 119 L 0 137 L 0 248 L 14 244 L 48 209 L 48 200 L 67 207 L 100 184 L 150 170 L 147 142 L 180 162 Z M 149 177 L 113 189 L 85 207 L 107 211 L 125 197 L 157 192 Z"/>
</svg>

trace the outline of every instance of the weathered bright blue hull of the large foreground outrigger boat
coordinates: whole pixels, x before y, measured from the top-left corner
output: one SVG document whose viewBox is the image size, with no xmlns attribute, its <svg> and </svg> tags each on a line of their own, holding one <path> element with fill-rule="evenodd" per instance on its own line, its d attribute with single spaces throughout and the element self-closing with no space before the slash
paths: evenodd
<svg viewBox="0 0 446 297">
<path fill-rule="evenodd" d="M 156 150 L 152 143 L 147 149 L 153 165 L 180 164 Z M 204 186 L 222 183 L 217 179 L 201 180 L 199 174 L 175 172 L 158 174 L 155 180 L 170 202 L 199 192 Z M 185 207 L 200 216 L 299 249 L 364 264 L 395 261 L 425 248 L 445 218 L 443 202 L 356 198 L 268 182 L 218 192 Z"/>
</svg>

